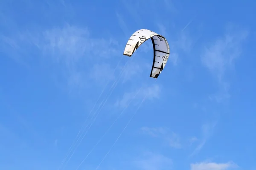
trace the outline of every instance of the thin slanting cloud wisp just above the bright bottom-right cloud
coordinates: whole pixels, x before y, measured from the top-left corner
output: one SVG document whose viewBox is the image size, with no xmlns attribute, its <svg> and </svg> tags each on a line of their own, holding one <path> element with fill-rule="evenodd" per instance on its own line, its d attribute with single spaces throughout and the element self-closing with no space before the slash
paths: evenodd
<svg viewBox="0 0 256 170">
<path fill-rule="evenodd" d="M 190 156 L 195 155 L 204 147 L 204 144 L 212 136 L 213 130 L 216 125 L 217 125 L 217 122 L 211 122 L 211 123 L 206 123 L 206 124 L 202 125 L 202 127 L 201 127 L 202 136 L 201 136 L 201 138 L 199 138 L 197 140 L 199 142 L 199 144 L 197 145 L 197 147 L 195 148 L 195 150 L 193 151 L 193 153 Z"/>
</svg>

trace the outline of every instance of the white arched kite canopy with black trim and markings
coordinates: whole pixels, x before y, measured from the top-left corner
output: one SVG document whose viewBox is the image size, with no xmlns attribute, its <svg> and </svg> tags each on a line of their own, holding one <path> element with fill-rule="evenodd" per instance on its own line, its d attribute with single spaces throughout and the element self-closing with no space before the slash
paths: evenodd
<svg viewBox="0 0 256 170">
<path fill-rule="evenodd" d="M 154 50 L 154 59 L 150 77 L 157 79 L 163 71 L 170 55 L 169 44 L 165 37 L 148 29 L 140 29 L 131 35 L 125 45 L 123 55 L 131 57 L 134 51 L 146 40 L 151 39 Z"/>
</svg>

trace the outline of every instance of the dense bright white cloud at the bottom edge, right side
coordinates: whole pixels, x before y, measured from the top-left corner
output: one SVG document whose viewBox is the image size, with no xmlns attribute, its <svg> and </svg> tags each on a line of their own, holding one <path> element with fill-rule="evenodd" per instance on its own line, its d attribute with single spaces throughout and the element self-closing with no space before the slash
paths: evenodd
<svg viewBox="0 0 256 170">
<path fill-rule="evenodd" d="M 231 170 L 238 167 L 233 162 L 215 163 L 215 162 L 201 162 L 190 164 L 190 170 Z"/>
</svg>

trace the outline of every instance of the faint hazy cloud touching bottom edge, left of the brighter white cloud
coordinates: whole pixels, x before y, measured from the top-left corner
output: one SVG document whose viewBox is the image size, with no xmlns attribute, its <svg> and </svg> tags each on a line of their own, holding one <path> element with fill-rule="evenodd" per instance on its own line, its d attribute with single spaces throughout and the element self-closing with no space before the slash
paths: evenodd
<svg viewBox="0 0 256 170">
<path fill-rule="evenodd" d="M 155 153 L 145 153 L 140 159 L 134 161 L 140 170 L 170 170 L 172 169 L 172 159 Z"/>
</svg>

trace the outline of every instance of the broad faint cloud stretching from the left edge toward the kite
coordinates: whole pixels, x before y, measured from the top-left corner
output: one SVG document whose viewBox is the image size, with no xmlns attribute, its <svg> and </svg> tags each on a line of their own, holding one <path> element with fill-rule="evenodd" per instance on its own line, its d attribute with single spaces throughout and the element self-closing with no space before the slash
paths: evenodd
<svg viewBox="0 0 256 170">
<path fill-rule="evenodd" d="M 96 79 L 102 78 L 103 73 L 106 75 L 111 72 L 106 64 L 95 63 L 105 62 L 104 59 L 110 57 L 114 58 L 121 49 L 118 42 L 112 38 L 96 38 L 91 35 L 87 28 L 67 24 L 58 28 L 28 29 L 8 36 L 1 35 L 0 45 L 7 47 L 4 48 L 4 52 L 20 63 L 28 65 L 26 60 L 38 59 L 45 62 L 47 67 L 50 65 L 52 69 L 58 69 L 58 74 L 66 79 L 66 84 L 76 89 L 88 83 L 86 80 L 90 77 L 93 66 L 96 68 L 102 66 L 101 69 L 106 69 L 101 74 L 97 74 L 99 69 L 93 72 Z M 108 78 L 113 77 L 108 76 Z"/>
</svg>

